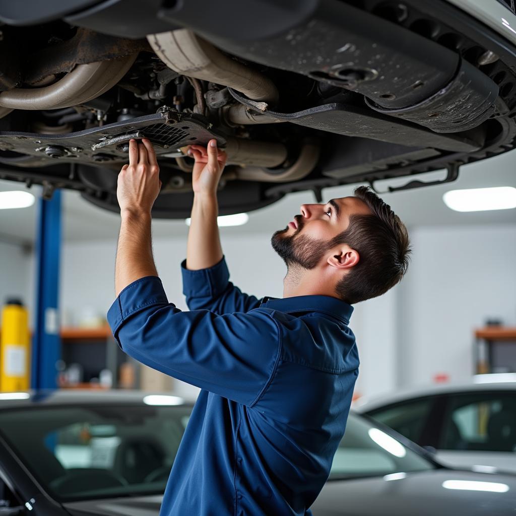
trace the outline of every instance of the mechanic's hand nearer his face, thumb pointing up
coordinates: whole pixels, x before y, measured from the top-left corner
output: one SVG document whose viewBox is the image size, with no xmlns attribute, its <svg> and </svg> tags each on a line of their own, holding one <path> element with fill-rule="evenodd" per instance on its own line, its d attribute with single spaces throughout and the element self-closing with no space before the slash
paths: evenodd
<svg viewBox="0 0 516 516">
<path fill-rule="evenodd" d="M 217 140 L 209 140 L 206 147 L 189 145 L 188 154 L 195 159 L 192 170 L 194 193 L 215 195 L 227 159 L 224 151 L 217 150 Z"/>
</svg>

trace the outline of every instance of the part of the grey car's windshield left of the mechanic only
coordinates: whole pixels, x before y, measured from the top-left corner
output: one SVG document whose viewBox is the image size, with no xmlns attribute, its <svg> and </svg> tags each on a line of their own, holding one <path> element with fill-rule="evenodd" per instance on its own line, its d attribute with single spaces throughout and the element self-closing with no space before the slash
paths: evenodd
<svg viewBox="0 0 516 516">
<path fill-rule="evenodd" d="M 188 406 L 75 406 L 0 411 L 0 432 L 57 501 L 162 494 Z"/>
</svg>

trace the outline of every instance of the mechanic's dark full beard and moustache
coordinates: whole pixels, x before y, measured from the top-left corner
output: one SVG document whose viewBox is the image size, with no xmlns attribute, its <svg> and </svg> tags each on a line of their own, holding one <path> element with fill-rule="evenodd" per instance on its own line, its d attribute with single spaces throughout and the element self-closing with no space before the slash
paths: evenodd
<svg viewBox="0 0 516 516">
<path fill-rule="evenodd" d="M 288 231 L 288 227 L 286 227 L 276 231 L 270 239 L 272 249 L 283 259 L 287 270 L 290 270 L 293 266 L 295 268 L 313 269 L 329 250 L 328 242 L 310 238 L 307 235 L 299 235 L 301 229 L 302 222 L 299 221 L 298 228 L 293 235 L 283 236 Z"/>
</svg>

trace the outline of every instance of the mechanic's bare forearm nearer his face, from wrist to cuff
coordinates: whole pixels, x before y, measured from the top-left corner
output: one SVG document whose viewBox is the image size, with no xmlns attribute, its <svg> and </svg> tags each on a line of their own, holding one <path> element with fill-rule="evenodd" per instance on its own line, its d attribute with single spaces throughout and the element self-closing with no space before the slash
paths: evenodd
<svg viewBox="0 0 516 516">
<path fill-rule="evenodd" d="M 193 196 L 190 229 L 186 246 L 186 267 L 190 270 L 212 267 L 222 260 L 216 194 Z"/>
</svg>

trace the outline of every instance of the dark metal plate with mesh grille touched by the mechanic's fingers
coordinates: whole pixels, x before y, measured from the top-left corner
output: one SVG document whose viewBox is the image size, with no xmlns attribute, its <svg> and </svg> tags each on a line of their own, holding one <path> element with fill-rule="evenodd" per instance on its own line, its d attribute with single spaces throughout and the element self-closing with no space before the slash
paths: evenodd
<svg viewBox="0 0 516 516">
<path fill-rule="evenodd" d="M 163 107 L 154 115 L 77 133 L 47 135 L 3 131 L 0 132 L 0 151 L 36 156 L 43 163 L 55 163 L 56 160 L 85 164 L 120 163 L 127 161 L 131 138 L 148 138 L 157 155 L 171 153 L 189 144 L 205 145 L 211 138 L 215 138 L 220 147 L 226 143 L 223 135 L 213 130 L 204 117 Z M 11 159 L 2 157 L 1 160 L 6 163 Z"/>
</svg>

